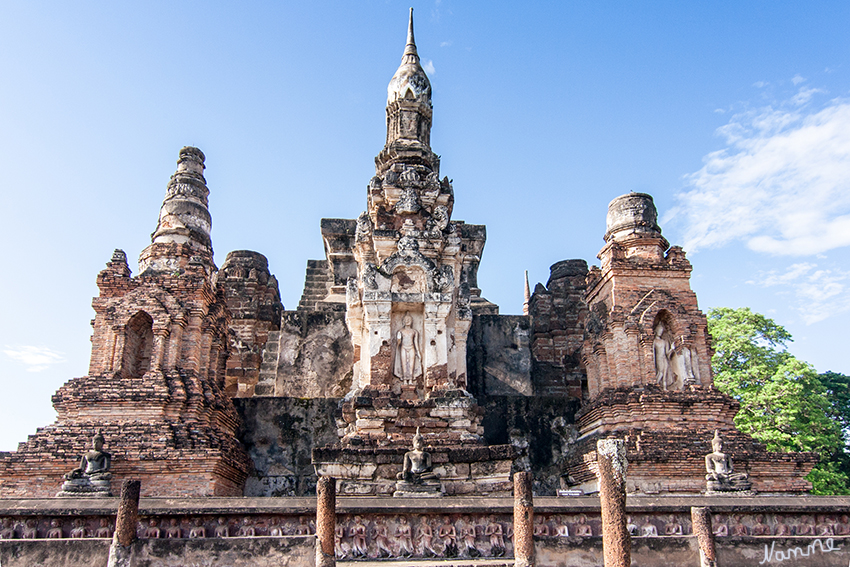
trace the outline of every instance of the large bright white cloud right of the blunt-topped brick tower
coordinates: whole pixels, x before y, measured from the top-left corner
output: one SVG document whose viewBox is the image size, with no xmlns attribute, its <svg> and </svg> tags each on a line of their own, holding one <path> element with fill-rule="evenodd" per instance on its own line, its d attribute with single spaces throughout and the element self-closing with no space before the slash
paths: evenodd
<svg viewBox="0 0 850 567">
<path fill-rule="evenodd" d="M 807 256 L 850 245 L 850 100 L 811 109 L 823 91 L 733 115 L 726 147 L 703 158 L 665 218 L 688 251 L 743 241 L 756 252 Z"/>
</svg>

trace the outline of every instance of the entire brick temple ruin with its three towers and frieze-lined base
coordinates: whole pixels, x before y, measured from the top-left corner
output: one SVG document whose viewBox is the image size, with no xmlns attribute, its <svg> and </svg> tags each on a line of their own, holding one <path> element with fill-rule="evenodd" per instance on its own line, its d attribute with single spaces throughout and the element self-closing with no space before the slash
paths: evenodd
<svg viewBox="0 0 850 567">
<path fill-rule="evenodd" d="M 768 452 L 735 429 L 691 264 L 651 196 L 611 201 L 599 266 L 556 262 L 524 314 L 502 315 L 477 277 L 485 227 L 452 218 L 431 150 L 412 15 L 386 112 L 365 211 L 321 220 L 325 258 L 308 260 L 295 309 L 261 253 L 216 266 L 206 157 L 180 150 L 137 275 L 121 250 L 97 275 L 88 375 L 54 395 L 55 423 L 0 453 L 0 539 L 111 536 L 108 496 L 55 498 L 98 432 L 108 492 L 141 480 L 143 539 L 309 536 L 317 480 L 332 477 L 340 557 L 449 554 L 449 523 L 455 555 L 510 557 L 505 497 L 529 472 L 543 556 L 599 551 L 597 441 L 612 438 L 638 503 L 629 530 L 672 538 L 659 557 L 690 553 L 694 503 L 719 511 L 719 537 L 850 534 L 848 503 L 805 495 L 816 455 Z M 400 484 L 417 435 L 427 494 Z M 739 494 L 707 493 L 711 454 L 734 458 Z M 292 545 L 284 555 L 301 557 Z M 647 564 L 666 564 L 650 548 Z"/>
</svg>

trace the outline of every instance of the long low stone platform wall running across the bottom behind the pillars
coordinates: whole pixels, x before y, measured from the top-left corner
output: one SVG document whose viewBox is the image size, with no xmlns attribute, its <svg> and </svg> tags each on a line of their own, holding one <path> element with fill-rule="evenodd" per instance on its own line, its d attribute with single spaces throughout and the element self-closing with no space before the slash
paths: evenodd
<svg viewBox="0 0 850 567">
<path fill-rule="evenodd" d="M 0 540 L 0 562 L 6 567 L 35 564 L 89 567 L 104 558 L 109 539 L 87 535 L 81 539 L 69 538 L 69 530 L 82 520 L 88 534 L 97 529 L 100 519 L 114 524 L 116 498 L 105 499 L 2 499 L 0 524 L 11 522 L 15 530 L 12 540 Z M 136 546 L 139 558 L 158 560 L 158 565 L 168 567 L 198 563 L 251 565 L 312 565 L 314 538 L 299 535 L 299 530 L 312 530 L 310 522 L 316 516 L 315 498 L 142 498 L 140 502 L 139 537 Z M 633 536 L 632 549 L 636 565 L 663 567 L 667 565 L 698 565 L 695 537 L 691 533 L 691 506 L 709 506 L 713 512 L 715 531 L 724 528 L 727 535 L 716 536 L 718 556 L 725 559 L 720 565 L 756 567 L 768 550 L 786 550 L 800 547 L 805 551 L 815 546 L 815 553 L 803 563 L 810 566 L 845 567 L 850 560 L 850 528 L 844 516 L 850 511 L 850 497 L 798 496 L 755 498 L 735 497 L 629 497 L 627 512 L 631 523 L 642 528 L 652 526 L 654 534 L 648 537 Z M 343 528 L 343 542 L 351 539 L 351 527 L 360 518 L 367 528 L 368 556 L 357 561 L 341 559 L 341 565 L 362 567 L 381 565 L 426 565 L 441 567 L 511 565 L 512 547 L 508 535 L 512 523 L 512 498 L 440 498 L 398 499 L 339 497 L 337 522 Z M 432 557 L 414 556 L 400 559 L 377 559 L 375 546 L 376 523 L 386 526 L 391 542 L 395 542 L 395 527 L 405 517 L 414 528 L 424 521 L 434 532 L 435 546 L 438 529 L 448 518 L 456 526 L 471 523 L 476 526 L 476 546 L 483 557 Z M 549 529 L 550 535 L 535 537 L 538 565 L 576 565 L 595 567 L 602 562 L 602 538 L 599 499 L 593 496 L 577 498 L 535 498 L 535 517 Z M 224 518 L 231 529 L 231 537 L 216 537 L 214 528 Z M 146 537 L 145 526 L 155 519 L 160 527 L 167 527 L 176 519 L 185 528 L 200 519 L 207 527 L 207 537 L 179 539 Z M 578 537 L 575 526 L 584 521 L 591 535 Z M 53 521 L 63 530 L 62 539 L 48 539 L 46 530 Z M 249 524 L 256 530 L 255 537 L 232 537 L 240 526 Z M 27 521 L 37 528 L 37 539 L 21 539 L 21 529 Z M 488 556 L 489 538 L 483 529 L 487 524 L 499 523 L 504 531 L 507 553 L 504 557 Z M 270 528 L 280 526 L 282 536 L 271 536 Z M 305 527 L 306 526 L 306 527 Z M 558 536 L 555 530 L 565 526 L 568 536 Z M 681 527 L 681 535 L 667 535 L 667 527 Z M 788 535 L 777 535 L 778 531 Z M 672 530 L 671 530 L 672 531 Z M 798 533 L 805 532 L 805 533 Z M 419 531 L 414 530 L 418 542 Z M 827 543 L 831 538 L 832 547 Z M 821 552 L 814 542 L 820 540 Z M 839 549 L 840 548 L 840 549 Z M 250 554 L 250 561 L 242 556 Z M 34 557 L 41 557 L 35 561 Z M 245 555 L 248 557 L 248 555 Z M 775 558 L 775 555 L 774 555 Z M 165 560 L 168 561 L 165 561 Z M 29 561 L 27 563 L 26 561 Z M 49 561 L 49 563 L 47 562 Z M 94 561 L 94 562 L 93 562 Z M 105 564 L 105 563 L 104 563 Z M 778 564 L 776 561 L 770 564 Z"/>
</svg>

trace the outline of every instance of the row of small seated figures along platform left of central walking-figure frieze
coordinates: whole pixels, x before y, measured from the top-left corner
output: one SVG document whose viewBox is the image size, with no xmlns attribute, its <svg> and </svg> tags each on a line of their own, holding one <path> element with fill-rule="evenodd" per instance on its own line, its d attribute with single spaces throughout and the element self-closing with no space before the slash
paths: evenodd
<svg viewBox="0 0 850 567">
<path fill-rule="evenodd" d="M 73 527 L 66 530 L 58 518 L 47 522 L 39 529 L 39 521 L 28 518 L 15 521 L 13 518 L 0 520 L 0 539 L 61 539 L 61 538 L 111 538 L 113 533 L 110 518 L 102 517 L 98 520 L 97 528 L 89 528 L 83 518 L 75 518 Z M 45 522 L 41 522 L 44 524 Z M 186 524 L 184 526 L 184 524 Z M 207 538 L 207 537 L 282 537 L 290 535 L 313 535 L 315 528 L 306 516 L 301 516 L 298 523 L 291 521 L 281 523 L 278 518 L 272 517 L 267 522 L 256 522 L 251 517 L 244 517 L 235 525 L 224 516 L 220 516 L 213 527 L 207 529 L 204 518 L 178 519 L 172 517 L 168 522 L 157 518 L 147 518 L 139 522 L 137 535 L 143 539 L 159 538 Z"/>
</svg>

